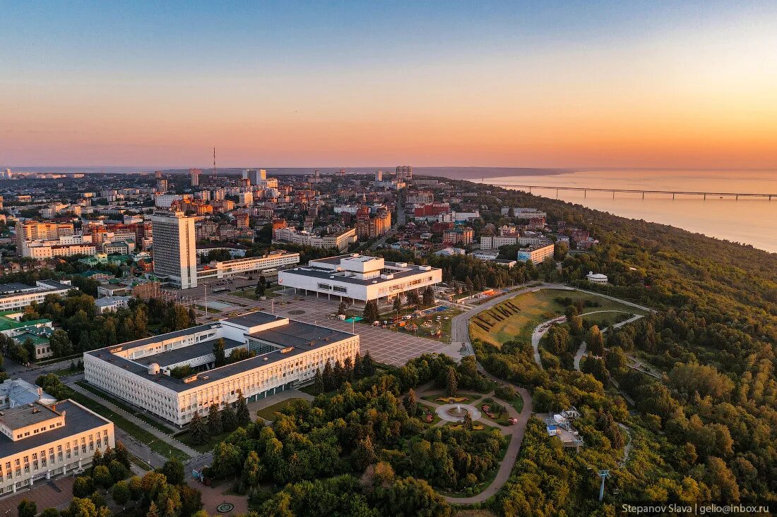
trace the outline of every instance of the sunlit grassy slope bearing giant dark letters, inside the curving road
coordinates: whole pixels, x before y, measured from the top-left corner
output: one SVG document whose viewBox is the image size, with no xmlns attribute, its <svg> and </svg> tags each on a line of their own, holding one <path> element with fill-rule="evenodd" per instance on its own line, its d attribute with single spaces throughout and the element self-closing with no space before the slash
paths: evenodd
<svg viewBox="0 0 777 517">
<path fill-rule="evenodd" d="M 516 340 L 531 343 L 531 332 L 543 321 L 564 314 L 566 306 L 556 302 L 555 298 L 570 298 L 573 301 L 591 300 L 599 307 L 584 307 L 583 312 L 592 311 L 628 311 L 632 314 L 644 314 L 636 307 L 630 307 L 615 300 L 599 297 L 591 293 L 543 289 L 531 293 L 519 294 L 491 307 L 488 311 L 472 317 L 469 322 L 469 335 L 472 339 L 493 345 Z M 608 313 L 592 314 L 592 317 L 606 317 Z M 620 314 L 620 313 L 609 313 Z"/>
</svg>

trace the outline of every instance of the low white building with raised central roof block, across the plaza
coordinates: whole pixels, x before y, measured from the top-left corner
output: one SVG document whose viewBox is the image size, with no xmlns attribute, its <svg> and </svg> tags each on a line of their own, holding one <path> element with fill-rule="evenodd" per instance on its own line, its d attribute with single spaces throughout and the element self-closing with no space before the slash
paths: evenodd
<svg viewBox="0 0 777 517">
<path fill-rule="evenodd" d="M 278 285 L 294 292 L 326 294 L 367 302 L 392 300 L 399 293 L 442 282 L 442 269 L 352 253 L 311 260 L 307 266 L 278 272 Z"/>
</svg>

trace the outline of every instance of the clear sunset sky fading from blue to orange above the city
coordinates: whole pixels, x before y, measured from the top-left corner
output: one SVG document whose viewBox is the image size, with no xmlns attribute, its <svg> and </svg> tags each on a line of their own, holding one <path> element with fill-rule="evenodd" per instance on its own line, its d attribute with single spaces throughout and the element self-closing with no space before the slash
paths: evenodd
<svg viewBox="0 0 777 517">
<path fill-rule="evenodd" d="M 777 168 L 777 2 L 0 9 L 4 166 Z"/>
</svg>

